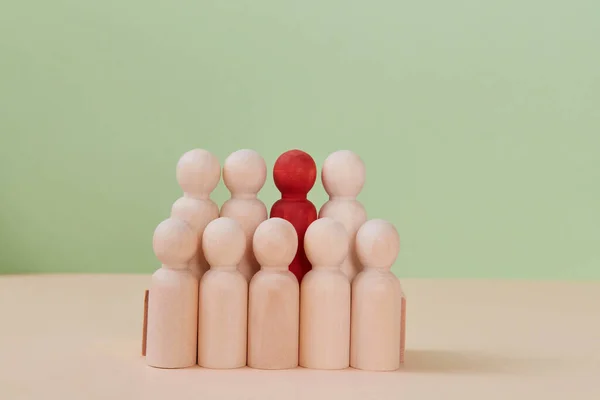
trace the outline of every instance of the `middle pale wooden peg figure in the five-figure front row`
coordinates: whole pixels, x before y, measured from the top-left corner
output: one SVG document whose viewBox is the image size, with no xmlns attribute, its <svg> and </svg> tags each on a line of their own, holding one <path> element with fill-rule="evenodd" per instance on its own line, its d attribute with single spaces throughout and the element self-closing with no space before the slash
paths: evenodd
<svg viewBox="0 0 600 400">
<path fill-rule="evenodd" d="M 300 293 L 288 266 L 298 236 L 288 221 L 270 218 L 254 232 L 253 248 L 261 265 L 249 289 L 248 366 L 289 369 L 298 366 Z"/>
</svg>

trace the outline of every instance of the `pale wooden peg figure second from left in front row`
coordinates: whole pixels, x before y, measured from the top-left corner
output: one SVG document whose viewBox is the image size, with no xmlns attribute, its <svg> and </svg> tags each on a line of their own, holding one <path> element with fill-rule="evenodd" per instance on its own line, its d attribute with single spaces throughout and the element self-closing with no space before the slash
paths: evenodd
<svg viewBox="0 0 600 400">
<path fill-rule="evenodd" d="M 246 365 L 248 282 L 237 269 L 246 235 L 230 218 L 210 222 L 202 236 L 210 264 L 200 280 L 198 365 L 212 369 Z"/>
</svg>

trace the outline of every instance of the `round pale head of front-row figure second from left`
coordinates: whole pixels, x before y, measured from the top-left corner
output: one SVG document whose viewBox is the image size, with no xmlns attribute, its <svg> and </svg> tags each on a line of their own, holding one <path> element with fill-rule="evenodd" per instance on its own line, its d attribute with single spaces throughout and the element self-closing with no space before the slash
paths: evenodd
<svg viewBox="0 0 600 400">
<path fill-rule="evenodd" d="M 204 229 L 202 251 L 211 267 L 237 266 L 246 251 L 246 234 L 237 221 L 217 218 Z"/>
</svg>

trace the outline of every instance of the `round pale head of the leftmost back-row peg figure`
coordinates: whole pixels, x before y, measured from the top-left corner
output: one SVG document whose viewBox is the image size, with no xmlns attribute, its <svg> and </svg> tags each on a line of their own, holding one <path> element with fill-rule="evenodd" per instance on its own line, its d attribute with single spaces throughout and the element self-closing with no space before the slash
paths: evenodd
<svg viewBox="0 0 600 400">
<path fill-rule="evenodd" d="M 184 193 L 206 198 L 221 179 L 221 165 L 212 153 L 194 149 L 185 153 L 177 163 L 177 182 Z"/>
</svg>

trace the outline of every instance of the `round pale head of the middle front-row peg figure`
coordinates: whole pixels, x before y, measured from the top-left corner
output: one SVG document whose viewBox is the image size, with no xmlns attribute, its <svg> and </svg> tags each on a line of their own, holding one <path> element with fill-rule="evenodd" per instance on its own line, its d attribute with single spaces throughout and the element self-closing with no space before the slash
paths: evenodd
<svg viewBox="0 0 600 400">
<path fill-rule="evenodd" d="M 256 228 L 252 247 L 261 267 L 287 268 L 298 250 L 298 234 L 288 221 L 269 218 Z"/>
</svg>

